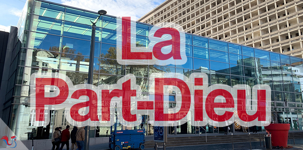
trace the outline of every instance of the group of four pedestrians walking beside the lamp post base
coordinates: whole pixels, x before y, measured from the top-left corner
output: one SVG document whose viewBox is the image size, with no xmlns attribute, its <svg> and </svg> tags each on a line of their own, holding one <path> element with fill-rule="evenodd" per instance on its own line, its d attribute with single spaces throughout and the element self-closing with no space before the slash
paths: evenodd
<svg viewBox="0 0 303 150">
<path fill-rule="evenodd" d="M 71 132 L 69 132 L 70 126 L 66 126 L 66 129 L 62 130 L 62 127 L 56 127 L 54 136 L 52 138 L 52 150 L 62 150 L 66 145 L 66 150 L 69 150 L 69 140 L 72 142 L 71 150 L 84 150 L 85 129 L 81 127 L 78 129 L 74 126 Z M 61 147 L 60 147 L 61 145 Z"/>
</svg>

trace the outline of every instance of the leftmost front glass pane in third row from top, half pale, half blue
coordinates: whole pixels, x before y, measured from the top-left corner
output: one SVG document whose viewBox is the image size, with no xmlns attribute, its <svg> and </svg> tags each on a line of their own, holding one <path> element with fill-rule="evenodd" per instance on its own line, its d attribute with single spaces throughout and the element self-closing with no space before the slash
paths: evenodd
<svg viewBox="0 0 303 150">
<path fill-rule="evenodd" d="M 50 51 L 60 51 L 60 42 L 61 37 L 31 32 L 28 42 L 28 48 L 41 49 L 41 50 L 50 50 Z"/>
</svg>

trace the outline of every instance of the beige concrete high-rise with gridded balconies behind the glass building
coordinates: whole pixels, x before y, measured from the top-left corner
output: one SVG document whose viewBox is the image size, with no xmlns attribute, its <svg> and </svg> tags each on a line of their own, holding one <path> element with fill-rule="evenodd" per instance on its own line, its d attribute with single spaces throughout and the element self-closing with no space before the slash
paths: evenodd
<svg viewBox="0 0 303 150">
<path fill-rule="evenodd" d="M 301 0 L 166 0 L 138 21 L 302 58 L 302 9 Z"/>
</svg>

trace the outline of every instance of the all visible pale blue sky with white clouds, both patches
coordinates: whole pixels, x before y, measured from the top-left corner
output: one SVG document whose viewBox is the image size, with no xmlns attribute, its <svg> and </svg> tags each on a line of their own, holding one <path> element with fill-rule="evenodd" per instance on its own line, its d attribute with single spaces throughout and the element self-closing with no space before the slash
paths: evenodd
<svg viewBox="0 0 303 150">
<path fill-rule="evenodd" d="M 136 20 L 165 0 L 48 0 L 63 5 L 90 11 L 106 10 L 108 15 L 119 12 L 133 12 Z M 10 26 L 17 26 L 26 0 L 0 0 L 0 31 L 9 32 Z M 120 13 L 121 14 L 121 13 Z M 125 13 L 123 13 L 125 14 Z M 132 14 L 132 13 L 129 13 Z"/>
</svg>

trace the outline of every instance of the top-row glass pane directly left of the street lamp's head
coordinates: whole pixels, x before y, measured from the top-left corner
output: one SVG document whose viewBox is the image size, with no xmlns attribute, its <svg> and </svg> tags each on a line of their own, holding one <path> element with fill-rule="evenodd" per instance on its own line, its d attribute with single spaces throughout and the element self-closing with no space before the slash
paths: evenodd
<svg viewBox="0 0 303 150">
<path fill-rule="evenodd" d="M 81 24 L 87 24 L 92 25 L 91 21 L 96 21 L 98 18 L 98 14 L 94 14 L 87 11 L 77 10 L 73 8 L 66 8 L 65 11 L 65 20 L 71 21 L 75 23 L 81 23 Z M 99 18 L 99 20 L 96 23 L 97 27 L 101 27 L 102 24 L 102 17 Z"/>
</svg>

